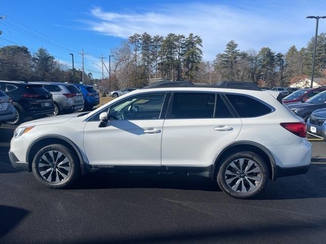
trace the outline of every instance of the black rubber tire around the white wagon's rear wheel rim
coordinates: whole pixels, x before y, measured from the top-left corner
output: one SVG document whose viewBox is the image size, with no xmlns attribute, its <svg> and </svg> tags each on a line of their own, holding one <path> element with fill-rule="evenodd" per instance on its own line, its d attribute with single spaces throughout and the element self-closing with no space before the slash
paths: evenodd
<svg viewBox="0 0 326 244">
<path fill-rule="evenodd" d="M 258 175 L 258 173 L 257 173 L 257 175 L 254 175 L 254 177 L 257 177 L 257 176 L 260 177 L 260 182 L 257 183 L 258 181 L 253 182 L 250 180 L 252 184 L 253 183 L 258 184 L 257 186 L 255 186 L 256 188 L 254 188 L 254 190 L 251 190 L 251 186 L 249 185 L 248 177 L 250 177 L 250 176 L 247 176 L 247 174 L 244 174 L 243 171 L 241 172 L 241 174 L 238 175 L 239 177 L 231 175 L 230 178 L 228 178 L 228 179 L 232 180 L 231 179 L 232 176 L 235 177 L 234 181 L 232 181 L 232 182 L 235 182 L 235 185 L 236 185 L 236 182 L 238 182 L 238 180 L 241 181 L 241 178 L 242 178 L 241 184 L 243 184 L 243 186 L 245 188 L 246 188 L 245 185 L 247 185 L 247 187 L 250 187 L 249 190 L 246 189 L 246 190 L 244 190 L 244 192 L 242 192 L 242 189 L 238 188 L 239 190 L 236 189 L 237 190 L 236 191 L 236 190 L 232 189 L 227 184 L 226 175 L 228 175 L 228 174 L 226 174 L 226 170 L 230 169 L 229 167 L 232 162 L 233 163 L 235 162 L 235 164 L 237 164 L 237 162 L 240 162 L 240 161 L 237 161 L 239 159 L 244 159 L 243 167 L 246 163 L 247 163 L 247 165 L 249 165 L 249 161 L 254 162 L 254 165 L 252 167 L 248 168 L 248 170 L 252 169 L 252 168 L 253 169 L 258 168 L 258 170 L 260 170 L 259 175 Z M 242 169 L 243 169 L 243 167 L 242 167 Z M 235 173 L 237 173 L 237 172 L 235 172 Z M 255 174 L 255 173 L 251 173 L 251 174 Z M 269 172 L 268 172 L 267 164 L 259 155 L 252 153 L 251 151 L 241 151 L 239 153 L 235 153 L 235 154 L 225 157 L 225 160 L 222 163 L 220 170 L 218 172 L 217 180 L 218 180 L 219 187 L 226 194 L 228 194 L 234 198 L 247 199 L 247 198 L 252 198 L 252 197 L 256 196 L 265 188 L 265 186 L 267 184 L 267 180 L 268 180 L 268 175 L 269 175 Z M 240 185 L 238 185 L 238 186 L 240 187 Z M 242 185 L 241 185 L 241 187 L 242 187 Z M 246 192 L 247 190 L 248 190 L 248 192 Z"/>
</svg>

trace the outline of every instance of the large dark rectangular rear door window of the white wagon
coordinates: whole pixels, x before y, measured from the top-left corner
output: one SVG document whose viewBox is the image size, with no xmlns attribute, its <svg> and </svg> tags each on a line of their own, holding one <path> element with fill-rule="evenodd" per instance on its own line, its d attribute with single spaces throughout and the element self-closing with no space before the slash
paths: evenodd
<svg viewBox="0 0 326 244">
<path fill-rule="evenodd" d="M 212 118 L 215 94 L 175 93 L 171 118 Z"/>
</svg>

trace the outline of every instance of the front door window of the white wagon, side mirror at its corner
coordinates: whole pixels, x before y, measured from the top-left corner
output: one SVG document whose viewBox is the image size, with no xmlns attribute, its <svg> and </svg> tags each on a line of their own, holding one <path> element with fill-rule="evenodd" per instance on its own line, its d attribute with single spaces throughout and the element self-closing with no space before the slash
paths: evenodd
<svg viewBox="0 0 326 244">
<path fill-rule="evenodd" d="M 159 119 L 166 94 L 130 97 L 110 108 L 110 120 Z"/>
</svg>

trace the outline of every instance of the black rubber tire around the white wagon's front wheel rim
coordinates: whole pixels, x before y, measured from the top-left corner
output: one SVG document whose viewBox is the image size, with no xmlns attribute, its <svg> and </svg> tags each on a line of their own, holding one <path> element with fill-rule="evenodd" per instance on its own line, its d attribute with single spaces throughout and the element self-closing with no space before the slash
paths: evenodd
<svg viewBox="0 0 326 244">
<path fill-rule="evenodd" d="M 63 174 L 57 173 L 55 171 L 55 170 L 59 169 L 59 166 L 57 166 L 57 168 L 53 169 L 53 170 L 52 170 L 53 167 L 51 167 L 50 171 L 52 170 L 52 172 L 50 172 L 48 175 L 48 178 L 50 178 L 49 180 L 44 178 L 45 176 L 42 177 L 40 172 L 45 172 L 45 171 L 40 171 L 40 170 L 47 170 L 49 168 L 44 168 L 44 167 L 40 166 L 40 164 L 45 165 L 44 163 L 42 163 L 44 161 L 41 160 L 41 157 L 44 156 L 47 158 L 47 156 L 49 156 L 49 153 L 51 153 L 51 151 L 58 151 L 59 153 L 63 154 L 69 161 L 68 163 L 66 163 L 66 165 L 63 164 L 65 166 L 67 166 L 67 164 L 68 164 L 70 167 L 69 173 L 67 173 L 68 171 L 65 172 L 67 174 L 67 177 L 65 179 L 63 177 Z M 59 156 L 59 154 L 57 155 L 56 161 L 60 161 L 60 159 L 61 159 L 58 156 Z M 57 165 L 58 165 L 58 163 L 57 163 Z M 41 167 L 42 169 L 40 169 L 39 167 Z M 49 166 L 46 166 L 46 167 L 49 167 Z M 79 164 L 79 161 L 77 160 L 74 152 L 70 148 L 68 148 L 62 144 L 52 144 L 52 145 L 45 146 L 38 151 L 38 153 L 35 155 L 35 157 L 33 159 L 32 170 L 33 170 L 35 178 L 39 182 L 41 182 L 43 185 L 45 185 L 49 188 L 53 188 L 53 189 L 64 189 L 64 188 L 71 186 L 73 184 L 73 182 L 75 182 L 75 180 L 80 175 L 80 164 Z M 62 170 L 62 168 L 60 168 L 60 170 Z M 43 175 L 46 175 L 46 174 L 43 174 Z M 61 175 L 62 178 L 60 178 L 60 176 L 58 176 L 58 175 Z M 54 182 L 55 180 L 57 180 L 57 177 L 59 178 L 60 182 Z M 55 178 L 55 180 L 53 180 L 53 178 Z"/>
</svg>

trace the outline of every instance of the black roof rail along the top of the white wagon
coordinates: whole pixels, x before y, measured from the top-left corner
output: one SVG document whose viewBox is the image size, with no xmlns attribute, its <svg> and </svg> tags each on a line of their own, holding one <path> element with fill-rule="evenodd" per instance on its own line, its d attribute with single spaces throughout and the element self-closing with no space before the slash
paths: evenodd
<svg viewBox="0 0 326 244">
<path fill-rule="evenodd" d="M 262 90 L 257 84 L 249 81 L 222 81 L 216 84 L 194 84 L 188 80 L 170 81 L 163 80 L 155 82 L 141 89 L 161 88 L 161 87 L 209 87 L 209 88 L 229 88 L 229 89 L 246 89 L 246 90 Z"/>
</svg>

